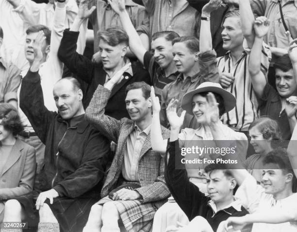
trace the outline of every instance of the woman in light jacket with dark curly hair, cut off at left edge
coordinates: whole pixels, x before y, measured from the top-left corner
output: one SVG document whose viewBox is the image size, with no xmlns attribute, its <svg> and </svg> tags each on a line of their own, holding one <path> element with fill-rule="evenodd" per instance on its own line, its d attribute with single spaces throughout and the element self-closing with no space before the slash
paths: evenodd
<svg viewBox="0 0 297 232">
<path fill-rule="evenodd" d="M 16 135 L 23 130 L 15 107 L 0 104 L 0 222 L 4 203 L 33 190 L 36 159 L 35 149 Z"/>
</svg>

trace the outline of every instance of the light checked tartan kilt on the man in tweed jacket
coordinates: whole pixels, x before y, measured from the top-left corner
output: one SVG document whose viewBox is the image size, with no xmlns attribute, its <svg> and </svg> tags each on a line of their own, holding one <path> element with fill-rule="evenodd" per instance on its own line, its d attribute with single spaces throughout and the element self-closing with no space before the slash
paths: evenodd
<svg viewBox="0 0 297 232">
<path fill-rule="evenodd" d="M 158 210 L 153 203 L 141 203 L 139 200 L 112 200 L 105 196 L 96 204 L 103 205 L 110 201 L 114 203 L 127 231 L 151 231 L 153 218 Z"/>
</svg>

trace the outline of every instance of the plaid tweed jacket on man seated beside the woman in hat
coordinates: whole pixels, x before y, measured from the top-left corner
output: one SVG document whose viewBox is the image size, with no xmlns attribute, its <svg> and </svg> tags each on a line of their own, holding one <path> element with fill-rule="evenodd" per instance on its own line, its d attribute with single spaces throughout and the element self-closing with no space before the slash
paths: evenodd
<svg viewBox="0 0 297 232">
<path fill-rule="evenodd" d="M 110 90 L 99 85 L 85 114 L 86 119 L 103 135 L 117 143 L 115 157 L 102 187 L 101 197 L 107 196 L 117 187 L 116 184 L 121 175 L 127 137 L 134 129 L 134 122 L 128 118 L 116 120 L 104 115 L 104 107 L 107 104 L 110 93 Z M 161 130 L 163 138 L 169 138 L 169 130 L 163 126 Z M 143 144 L 138 160 L 138 178 L 141 187 L 136 190 L 143 198 L 140 201 L 143 203 L 154 202 L 158 208 L 167 201 L 170 192 L 165 183 L 164 171 L 165 158 L 161 157 L 160 153 L 152 151 L 149 134 Z"/>
</svg>

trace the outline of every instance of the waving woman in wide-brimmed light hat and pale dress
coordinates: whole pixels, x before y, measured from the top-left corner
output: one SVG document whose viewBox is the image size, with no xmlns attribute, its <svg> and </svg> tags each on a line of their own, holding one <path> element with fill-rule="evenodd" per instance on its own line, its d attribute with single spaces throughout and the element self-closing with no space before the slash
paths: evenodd
<svg viewBox="0 0 297 232">
<path fill-rule="evenodd" d="M 223 125 L 221 121 L 218 121 L 215 126 L 210 126 L 211 118 L 207 117 L 209 114 L 210 108 L 208 103 L 208 94 L 212 92 L 214 98 L 218 103 L 217 115 L 221 116 L 223 113 L 228 112 L 235 106 L 236 99 L 235 97 L 226 90 L 222 89 L 220 84 L 213 82 L 204 82 L 198 86 L 197 89 L 189 91 L 186 93 L 181 101 L 181 107 L 186 110 L 188 114 L 195 116 L 195 119 L 198 123 L 197 129 L 185 128 L 181 129 L 183 124 L 183 117 L 185 111 L 181 114 L 181 117 L 178 117 L 176 109 L 179 105 L 178 100 L 172 99 L 167 107 L 167 118 L 171 126 L 171 135 L 176 134 L 180 147 L 192 147 L 198 144 L 198 141 L 211 141 L 211 140 L 231 140 L 236 141 L 237 143 L 237 154 L 242 156 L 242 161 L 246 156 L 247 152 L 247 137 L 245 134 L 233 131 L 227 125 Z M 158 99 L 154 96 L 153 89 L 151 91 L 151 99 L 153 106 L 153 119 L 151 125 L 151 145 L 152 149 L 158 152 L 165 153 L 167 141 L 163 141 L 161 137 L 160 121 L 159 121 L 159 112 L 160 106 Z M 216 108 L 216 109 L 217 109 Z M 180 133 L 179 133 L 180 132 Z M 177 138 L 176 138 L 177 139 Z M 160 141 L 162 141 L 160 143 Z M 210 159 L 207 154 L 202 154 L 200 158 Z M 195 176 L 195 185 L 198 186 L 200 192 L 207 192 L 206 181 L 204 177 L 204 167 L 207 166 L 207 163 L 195 164 L 195 169 L 189 169 L 189 166 L 186 164 L 188 177 Z M 193 166 L 192 166 L 193 168 Z M 191 181 L 192 182 L 192 181 Z M 194 181 L 193 181 L 194 182 Z M 181 216 L 181 209 L 175 204 L 175 210 L 173 210 L 173 203 L 171 201 L 165 203 L 155 214 L 153 232 L 164 231 L 167 226 L 172 224 L 176 225 L 176 222 L 179 221 L 182 223 L 187 223 L 187 218 L 185 214 Z M 168 210 L 167 210 L 168 209 Z M 186 219 L 185 219 L 186 218 Z"/>
</svg>

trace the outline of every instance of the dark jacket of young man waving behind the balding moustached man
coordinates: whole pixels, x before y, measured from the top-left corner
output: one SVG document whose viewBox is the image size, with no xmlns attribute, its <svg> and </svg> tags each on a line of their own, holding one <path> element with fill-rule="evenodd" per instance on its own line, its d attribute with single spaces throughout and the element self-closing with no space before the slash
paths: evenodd
<svg viewBox="0 0 297 232">
<path fill-rule="evenodd" d="M 66 67 L 74 73 L 74 77 L 87 83 L 87 89 L 84 92 L 83 107 L 88 107 L 93 93 L 97 86 L 104 85 L 106 72 L 103 69 L 102 63 L 97 64 L 89 60 L 87 57 L 76 52 L 77 39 L 79 32 L 72 32 L 66 29 L 61 40 L 58 51 L 59 59 L 66 65 Z M 105 113 L 115 119 L 130 118 L 125 104 L 125 89 L 133 82 L 144 81 L 151 84 L 149 73 L 143 68 L 140 62 L 132 63 L 132 72 L 124 72 L 124 79 L 117 84 L 111 93 L 111 96 L 105 107 Z"/>
</svg>

